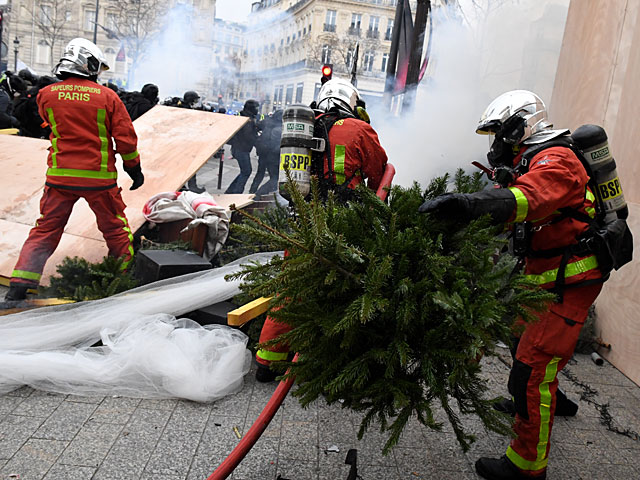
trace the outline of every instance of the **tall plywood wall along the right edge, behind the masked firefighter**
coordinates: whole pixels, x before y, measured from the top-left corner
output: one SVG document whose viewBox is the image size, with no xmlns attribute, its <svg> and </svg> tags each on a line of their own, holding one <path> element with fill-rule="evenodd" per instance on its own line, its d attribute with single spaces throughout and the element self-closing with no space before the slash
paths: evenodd
<svg viewBox="0 0 640 480">
<path fill-rule="evenodd" d="M 550 102 L 556 127 L 602 125 L 629 205 L 636 257 L 640 251 L 640 0 L 572 0 Z M 640 385 L 640 262 L 604 285 L 596 330 L 611 350 L 600 353 Z"/>
</svg>

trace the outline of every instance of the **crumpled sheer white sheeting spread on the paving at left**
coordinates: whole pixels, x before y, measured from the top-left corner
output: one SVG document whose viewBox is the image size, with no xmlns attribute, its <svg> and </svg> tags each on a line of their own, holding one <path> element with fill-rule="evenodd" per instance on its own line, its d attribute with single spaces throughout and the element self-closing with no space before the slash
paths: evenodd
<svg viewBox="0 0 640 480">
<path fill-rule="evenodd" d="M 249 255 L 102 300 L 0 317 L 0 393 L 29 385 L 208 402 L 237 392 L 251 365 L 247 336 L 176 317 L 238 294 L 241 282 L 224 277 L 276 254 Z M 99 339 L 104 346 L 92 347 Z"/>
</svg>

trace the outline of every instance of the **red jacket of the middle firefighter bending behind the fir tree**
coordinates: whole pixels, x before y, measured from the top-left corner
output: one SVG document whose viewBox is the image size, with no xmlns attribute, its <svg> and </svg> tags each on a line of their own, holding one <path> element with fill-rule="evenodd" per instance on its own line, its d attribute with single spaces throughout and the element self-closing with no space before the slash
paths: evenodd
<svg viewBox="0 0 640 480">
<path fill-rule="evenodd" d="M 376 191 L 382 180 L 387 154 L 380 145 L 378 134 L 367 122 L 355 118 L 344 118 L 329 130 L 331 170 L 336 185 L 349 181 L 355 188 L 367 180 L 367 187 Z M 327 159 L 324 162 L 325 177 L 329 175 Z"/>
</svg>

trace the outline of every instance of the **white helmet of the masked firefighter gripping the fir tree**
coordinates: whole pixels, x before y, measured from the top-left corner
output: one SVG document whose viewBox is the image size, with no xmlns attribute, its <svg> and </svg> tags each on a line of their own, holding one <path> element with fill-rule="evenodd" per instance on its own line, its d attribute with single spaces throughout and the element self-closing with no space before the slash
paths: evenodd
<svg viewBox="0 0 640 480">
<path fill-rule="evenodd" d="M 512 90 L 503 93 L 489 104 L 480 117 L 476 133 L 484 135 L 498 133 L 507 120 L 513 120 L 516 115 L 524 120 L 524 124 L 515 122 L 519 123 L 519 128 L 502 132 L 507 143 L 514 145 L 528 143 L 526 140 L 533 135 L 553 127 L 548 121 L 547 108 L 540 97 L 528 90 Z M 514 124 L 514 122 L 509 123 Z"/>
</svg>

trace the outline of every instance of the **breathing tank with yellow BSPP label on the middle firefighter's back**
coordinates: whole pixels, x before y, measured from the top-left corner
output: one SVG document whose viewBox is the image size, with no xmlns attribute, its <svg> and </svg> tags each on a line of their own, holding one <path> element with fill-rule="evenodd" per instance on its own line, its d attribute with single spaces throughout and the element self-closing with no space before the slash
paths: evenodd
<svg viewBox="0 0 640 480">
<path fill-rule="evenodd" d="M 313 137 L 315 115 L 306 105 L 291 105 L 282 115 L 282 138 L 280 140 L 280 177 L 278 190 L 287 200 L 290 195 L 284 185 L 286 170 L 303 197 L 311 191 L 311 157 L 313 151 L 324 151 L 325 141 Z"/>
</svg>

